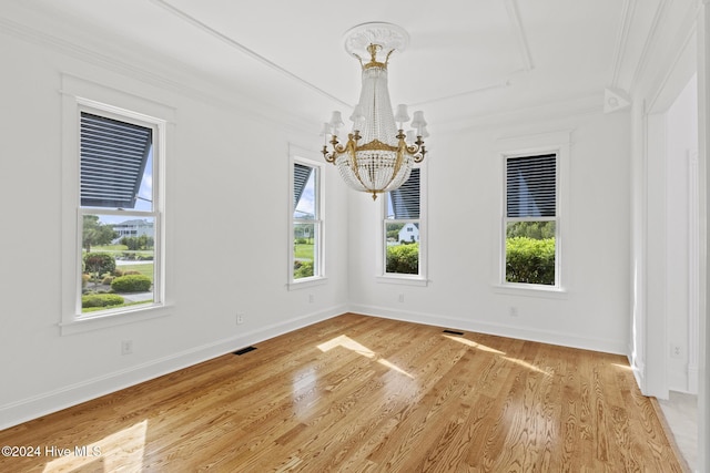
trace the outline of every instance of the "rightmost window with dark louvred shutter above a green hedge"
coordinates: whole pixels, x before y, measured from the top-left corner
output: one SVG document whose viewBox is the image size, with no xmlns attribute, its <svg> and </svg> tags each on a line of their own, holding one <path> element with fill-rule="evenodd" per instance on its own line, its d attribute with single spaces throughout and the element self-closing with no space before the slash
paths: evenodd
<svg viewBox="0 0 710 473">
<path fill-rule="evenodd" d="M 505 282 L 559 286 L 557 169 L 557 154 L 505 157 Z"/>
</svg>

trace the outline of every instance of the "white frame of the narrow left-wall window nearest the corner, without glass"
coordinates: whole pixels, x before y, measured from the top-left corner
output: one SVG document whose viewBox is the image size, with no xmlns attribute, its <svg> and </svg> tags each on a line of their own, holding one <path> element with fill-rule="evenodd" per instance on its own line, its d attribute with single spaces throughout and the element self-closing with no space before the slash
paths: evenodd
<svg viewBox="0 0 710 473">
<path fill-rule="evenodd" d="M 305 150 L 291 146 L 288 160 L 288 273 L 287 273 L 287 287 L 288 289 L 306 288 L 313 285 L 324 284 L 327 280 L 326 265 L 325 265 L 325 164 L 311 157 L 312 153 Z M 295 172 L 296 164 L 307 166 L 314 169 L 315 173 L 315 207 L 314 218 L 296 218 L 294 217 L 294 186 L 295 186 Z M 295 279 L 293 275 L 293 267 L 295 263 L 295 226 L 297 224 L 313 224 L 314 226 L 314 265 L 313 276 Z"/>
</svg>

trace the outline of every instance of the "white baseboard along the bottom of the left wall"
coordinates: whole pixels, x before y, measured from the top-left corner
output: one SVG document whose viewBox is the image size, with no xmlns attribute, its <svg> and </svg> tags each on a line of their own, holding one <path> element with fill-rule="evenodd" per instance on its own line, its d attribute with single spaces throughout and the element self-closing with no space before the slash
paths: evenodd
<svg viewBox="0 0 710 473">
<path fill-rule="evenodd" d="M 0 421 L 0 430 L 169 374 L 180 369 L 233 352 L 236 349 L 327 320 L 346 311 L 346 306 L 332 307 L 315 313 L 295 317 L 280 323 L 272 323 L 258 330 L 246 331 L 234 337 L 190 348 L 134 367 L 113 371 L 32 398 L 4 404 L 0 407 L 0 419 L 2 419 L 2 421 Z"/>
</svg>

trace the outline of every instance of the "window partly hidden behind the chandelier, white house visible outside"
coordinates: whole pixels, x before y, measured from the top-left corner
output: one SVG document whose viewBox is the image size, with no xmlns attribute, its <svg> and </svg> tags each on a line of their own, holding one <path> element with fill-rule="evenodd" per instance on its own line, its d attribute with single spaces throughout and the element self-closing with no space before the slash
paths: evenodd
<svg viewBox="0 0 710 473">
<path fill-rule="evenodd" d="M 420 168 L 407 182 L 385 194 L 384 274 L 422 275 Z"/>
</svg>

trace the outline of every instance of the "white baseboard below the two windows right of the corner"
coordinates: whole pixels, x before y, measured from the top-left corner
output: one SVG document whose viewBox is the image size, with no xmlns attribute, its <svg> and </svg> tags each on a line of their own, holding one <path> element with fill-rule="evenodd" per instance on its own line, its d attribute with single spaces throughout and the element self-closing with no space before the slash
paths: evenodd
<svg viewBox="0 0 710 473">
<path fill-rule="evenodd" d="M 446 327 L 452 329 L 468 330 L 479 333 L 495 335 L 520 340 L 538 341 L 540 343 L 557 345 L 561 347 L 579 348 L 582 350 L 602 351 L 606 353 L 627 356 L 626 342 L 604 340 L 591 337 L 579 337 L 552 330 L 538 330 L 520 328 L 504 323 L 490 323 L 480 320 L 463 319 L 458 317 L 438 316 L 408 310 L 392 310 L 384 307 L 351 305 L 349 310 L 373 317 L 424 323 L 428 326 Z"/>
</svg>

